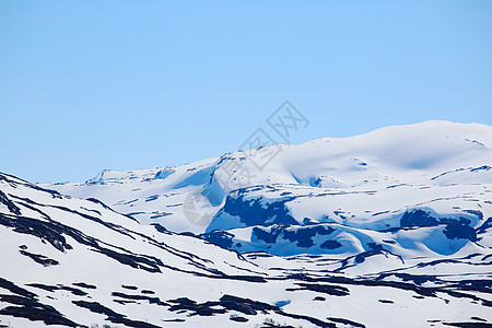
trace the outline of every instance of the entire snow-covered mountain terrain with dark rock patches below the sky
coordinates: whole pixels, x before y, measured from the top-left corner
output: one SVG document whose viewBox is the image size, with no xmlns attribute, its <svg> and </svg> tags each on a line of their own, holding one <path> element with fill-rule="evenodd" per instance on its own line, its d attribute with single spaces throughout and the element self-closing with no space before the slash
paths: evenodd
<svg viewBox="0 0 492 328">
<path fill-rule="evenodd" d="M 274 148 L 0 174 L 0 327 L 491 326 L 492 127 Z"/>
</svg>

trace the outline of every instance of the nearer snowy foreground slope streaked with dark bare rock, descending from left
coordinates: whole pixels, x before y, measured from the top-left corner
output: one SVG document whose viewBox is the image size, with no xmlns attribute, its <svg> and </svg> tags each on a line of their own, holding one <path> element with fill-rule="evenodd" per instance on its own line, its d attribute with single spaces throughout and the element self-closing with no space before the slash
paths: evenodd
<svg viewBox="0 0 492 328">
<path fill-rule="evenodd" d="M 329 236 L 342 224 L 297 229 L 311 226 Z M 347 238 L 360 238 L 351 229 Z M 412 243 L 425 229 L 435 226 L 398 233 Z M 403 258 L 387 244 L 353 256 L 241 255 L 0 174 L 0 327 L 488 327 L 491 234 L 475 232 L 450 255 Z"/>
</svg>

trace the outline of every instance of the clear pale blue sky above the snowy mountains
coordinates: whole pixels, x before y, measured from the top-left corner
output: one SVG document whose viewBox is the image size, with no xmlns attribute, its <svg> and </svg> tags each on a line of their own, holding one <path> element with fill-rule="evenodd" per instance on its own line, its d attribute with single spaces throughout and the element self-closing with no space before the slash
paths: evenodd
<svg viewBox="0 0 492 328">
<path fill-rule="evenodd" d="M 0 2 L 0 171 L 83 181 L 292 138 L 492 125 L 492 1 Z"/>
</svg>

